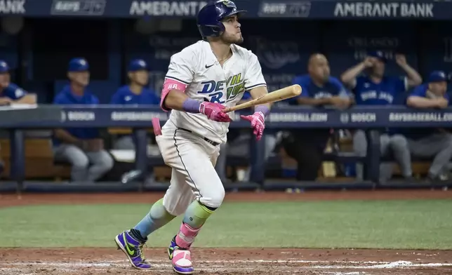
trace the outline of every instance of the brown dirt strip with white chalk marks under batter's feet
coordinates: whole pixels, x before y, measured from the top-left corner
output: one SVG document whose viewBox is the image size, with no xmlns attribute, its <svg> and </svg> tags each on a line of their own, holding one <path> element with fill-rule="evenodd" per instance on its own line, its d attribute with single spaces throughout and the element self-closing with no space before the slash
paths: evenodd
<svg viewBox="0 0 452 275">
<path fill-rule="evenodd" d="M 149 274 L 172 274 L 164 248 L 146 249 Z M 452 251 L 194 249 L 197 274 L 452 274 Z M 0 274 L 143 274 L 112 248 L 0 250 Z M 145 271 L 146 272 L 146 271 Z"/>
</svg>

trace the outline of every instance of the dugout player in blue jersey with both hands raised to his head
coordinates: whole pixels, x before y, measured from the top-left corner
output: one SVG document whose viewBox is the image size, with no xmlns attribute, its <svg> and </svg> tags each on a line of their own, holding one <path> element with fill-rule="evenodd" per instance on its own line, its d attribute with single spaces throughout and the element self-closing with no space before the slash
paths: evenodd
<svg viewBox="0 0 452 275">
<path fill-rule="evenodd" d="M 387 59 L 382 51 L 371 51 L 363 62 L 347 69 L 340 79 L 354 92 L 357 105 L 394 105 L 401 104 L 399 99 L 404 93 L 422 83 L 422 78 L 406 62 L 404 55 L 395 55 L 395 61 L 406 72 L 406 76 L 385 75 Z M 360 74 L 363 74 L 359 76 Z M 380 135 L 380 152 L 383 156 L 394 156 L 399 163 L 401 174 L 407 181 L 412 181 L 411 155 L 408 142 L 397 129 L 386 129 Z M 367 140 L 364 130 L 356 130 L 353 135 L 353 149 L 359 156 L 366 156 Z M 392 177 L 392 163 L 382 163 L 380 166 L 380 182 L 386 182 Z M 361 163 L 357 164 L 357 180 L 363 180 L 364 171 Z"/>
</svg>

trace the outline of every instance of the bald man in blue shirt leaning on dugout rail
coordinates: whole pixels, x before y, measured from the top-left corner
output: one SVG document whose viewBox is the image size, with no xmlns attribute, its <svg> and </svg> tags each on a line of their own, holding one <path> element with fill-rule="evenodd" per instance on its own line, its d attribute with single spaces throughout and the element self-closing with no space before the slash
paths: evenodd
<svg viewBox="0 0 452 275">
<path fill-rule="evenodd" d="M 330 76 L 330 66 L 324 55 L 311 55 L 307 70 L 309 74 L 293 79 L 293 84 L 303 88 L 296 104 L 312 107 L 332 105 L 338 109 L 350 107 L 352 96 L 338 79 Z M 284 150 L 298 162 L 297 180 L 316 180 L 330 135 L 330 129 L 324 128 L 300 128 L 284 135 L 281 141 Z"/>
</svg>

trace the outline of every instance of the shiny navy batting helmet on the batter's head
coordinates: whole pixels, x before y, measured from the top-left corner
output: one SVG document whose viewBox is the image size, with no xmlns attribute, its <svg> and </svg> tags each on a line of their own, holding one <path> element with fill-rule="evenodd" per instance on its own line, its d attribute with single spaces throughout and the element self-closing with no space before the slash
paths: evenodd
<svg viewBox="0 0 452 275">
<path fill-rule="evenodd" d="M 202 39 L 205 40 L 208 36 L 220 36 L 225 31 L 225 25 L 222 24 L 221 20 L 242 13 L 246 13 L 246 11 L 237 10 L 234 2 L 229 0 L 218 0 L 207 4 L 201 8 L 197 17 L 197 25 Z"/>
</svg>

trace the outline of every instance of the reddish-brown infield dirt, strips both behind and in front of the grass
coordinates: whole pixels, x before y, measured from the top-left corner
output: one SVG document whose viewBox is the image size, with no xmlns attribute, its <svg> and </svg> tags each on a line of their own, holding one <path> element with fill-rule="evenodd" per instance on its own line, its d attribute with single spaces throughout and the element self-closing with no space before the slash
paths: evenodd
<svg viewBox="0 0 452 275">
<path fill-rule="evenodd" d="M 0 207 L 42 203 L 152 203 L 162 194 L 24 194 L 0 196 Z M 430 190 L 232 193 L 227 201 L 332 199 L 451 199 L 452 192 Z M 165 248 L 145 248 L 154 264 L 149 274 L 172 273 Z M 197 274 L 452 274 L 451 250 L 314 250 L 274 248 L 195 248 Z M 0 249 L 0 274 L 142 274 L 113 248 Z"/>
</svg>

